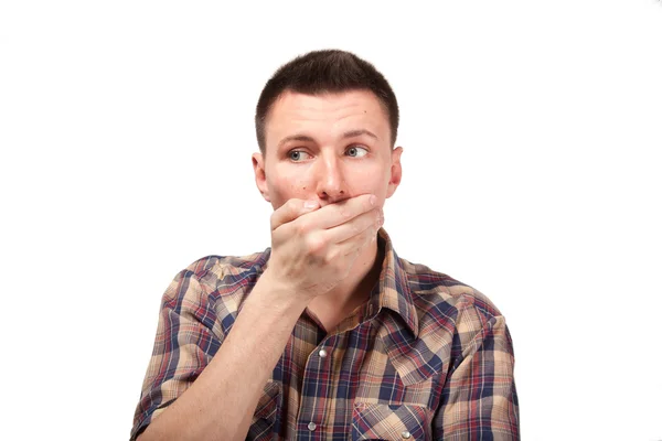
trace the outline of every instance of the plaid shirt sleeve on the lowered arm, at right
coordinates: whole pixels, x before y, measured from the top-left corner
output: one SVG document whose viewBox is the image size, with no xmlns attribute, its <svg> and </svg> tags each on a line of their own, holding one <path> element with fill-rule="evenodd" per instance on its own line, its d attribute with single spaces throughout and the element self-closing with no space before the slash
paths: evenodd
<svg viewBox="0 0 662 441">
<path fill-rule="evenodd" d="M 433 422 L 435 439 L 519 440 L 514 353 L 505 319 L 472 312 L 468 314 L 472 324 L 458 326 L 453 338 L 459 356 L 441 391 Z"/>
</svg>

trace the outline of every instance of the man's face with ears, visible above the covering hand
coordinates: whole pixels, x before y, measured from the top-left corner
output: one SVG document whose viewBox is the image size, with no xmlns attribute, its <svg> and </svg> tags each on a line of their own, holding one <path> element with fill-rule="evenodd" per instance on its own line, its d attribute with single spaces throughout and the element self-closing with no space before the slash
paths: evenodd
<svg viewBox="0 0 662 441">
<path fill-rule="evenodd" d="M 324 206 L 361 194 L 383 206 L 401 182 L 403 150 L 391 148 L 388 117 L 372 92 L 286 92 L 269 111 L 265 140 L 253 168 L 274 209 L 290 198 Z"/>
</svg>

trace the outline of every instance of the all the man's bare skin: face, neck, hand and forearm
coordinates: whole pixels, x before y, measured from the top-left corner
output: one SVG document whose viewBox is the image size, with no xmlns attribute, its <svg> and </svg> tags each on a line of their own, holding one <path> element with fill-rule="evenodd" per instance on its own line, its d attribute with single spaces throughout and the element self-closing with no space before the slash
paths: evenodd
<svg viewBox="0 0 662 441">
<path fill-rule="evenodd" d="M 365 300 L 378 275 L 382 207 L 402 175 L 402 148 L 388 137 L 372 93 L 277 100 L 266 154 L 253 155 L 257 187 L 274 206 L 268 267 L 212 362 L 141 441 L 244 440 L 301 313 L 329 330 Z"/>
</svg>

